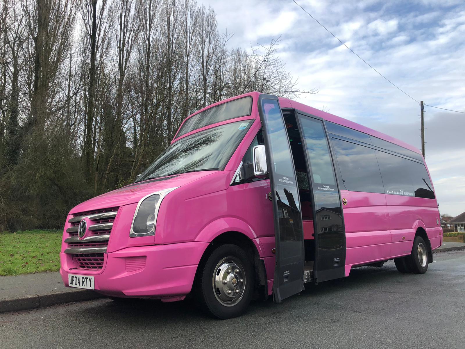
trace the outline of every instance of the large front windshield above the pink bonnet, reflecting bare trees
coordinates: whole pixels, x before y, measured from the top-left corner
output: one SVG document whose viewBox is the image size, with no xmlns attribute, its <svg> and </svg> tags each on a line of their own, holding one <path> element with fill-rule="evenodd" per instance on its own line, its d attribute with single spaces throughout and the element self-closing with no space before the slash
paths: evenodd
<svg viewBox="0 0 465 349">
<path fill-rule="evenodd" d="M 252 121 L 231 122 L 176 141 L 139 176 L 137 182 L 177 173 L 223 169 Z"/>
</svg>

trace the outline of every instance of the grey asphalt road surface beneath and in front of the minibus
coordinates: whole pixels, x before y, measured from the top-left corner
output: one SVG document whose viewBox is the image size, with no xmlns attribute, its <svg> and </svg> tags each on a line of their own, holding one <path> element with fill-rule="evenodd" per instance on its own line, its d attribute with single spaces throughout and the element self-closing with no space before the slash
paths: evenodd
<svg viewBox="0 0 465 349">
<path fill-rule="evenodd" d="M 99 299 L 0 315 L 0 348 L 465 348 L 465 251 L 425 275 L 357 268 L 214 320 L 193 302 Z"/>
</svg>

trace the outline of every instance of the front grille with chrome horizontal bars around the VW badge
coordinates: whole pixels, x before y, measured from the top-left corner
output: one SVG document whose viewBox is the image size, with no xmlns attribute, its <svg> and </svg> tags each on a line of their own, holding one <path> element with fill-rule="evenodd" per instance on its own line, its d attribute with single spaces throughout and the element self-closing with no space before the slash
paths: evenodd
<svg viewBox="0 0 465 349">
<path fill-rule="evenodd" d="M 106 208 L 76 214 L 68 222 L 66 229 L 68 238 L 65 239 L 67 248 L 65 253 L 71 255 L 75 268 L 100 270 L 103 268 L 103 254 L 106 252 L 110 233 L 113 228 L 118 208 Z M 86 237 L 78 237 L 79 223 L 87 218 L 88 227 Z"/>
</svg>

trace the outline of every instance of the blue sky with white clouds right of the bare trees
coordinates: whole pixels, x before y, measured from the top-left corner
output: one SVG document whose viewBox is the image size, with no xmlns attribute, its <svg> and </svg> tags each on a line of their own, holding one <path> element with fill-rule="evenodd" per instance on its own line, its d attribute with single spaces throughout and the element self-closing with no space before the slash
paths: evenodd
<svg viewBox="0 0 465 349">
<path fill-rule="evenodd" d="M 465 112 L 465 1 L 296 0 L 417 101 Z M 419 103 L 393 87 L 292 0 L 200 0 L 231 47 L 267 44 L 302 90 L 299 102 L 421 148 Z M 441 214 L 465 211 L 465 114 L 425 107 L 425 154 Z"/>
</svg>

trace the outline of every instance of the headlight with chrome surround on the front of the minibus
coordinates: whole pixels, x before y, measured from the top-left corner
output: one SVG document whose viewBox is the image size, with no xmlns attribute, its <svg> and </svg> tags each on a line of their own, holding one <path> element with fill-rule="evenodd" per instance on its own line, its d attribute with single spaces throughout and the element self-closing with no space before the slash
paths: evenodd
<svg viewBox="0 0 465 349">
<path fill-rule="evenodd" d="M 133 224 L 131 225 L 130 237 L 155 235 L 155 225 L 157 215 L 163 198 L 174 189 L 168 188 L 144 196 L 137 204 L 134 213 Z"/>
</svg>

